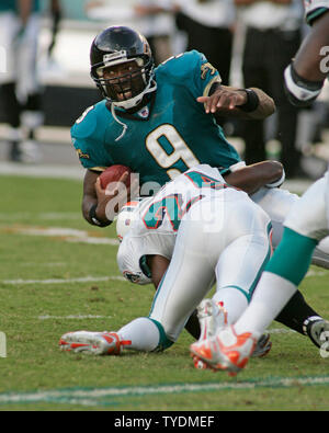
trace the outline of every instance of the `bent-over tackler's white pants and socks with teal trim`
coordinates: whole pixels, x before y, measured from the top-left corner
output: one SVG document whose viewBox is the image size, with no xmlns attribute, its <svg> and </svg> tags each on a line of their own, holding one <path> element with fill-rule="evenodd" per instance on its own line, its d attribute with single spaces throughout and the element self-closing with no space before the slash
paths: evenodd
<svg viewBox="0 0 329 433">
<path fill-rule="evenodd" d="M 224 301 L 228 321 L 235 322 L 270 258 L 270 229 L 268 215 L 242 192 L 225 190 L 214 201 L 194 204 L 180 224 L 149 317 L 133 320 L 117 332 L 132 341 L 126 349 L 170 346 L 215 280 L 214 298 Z"/>
</svg>

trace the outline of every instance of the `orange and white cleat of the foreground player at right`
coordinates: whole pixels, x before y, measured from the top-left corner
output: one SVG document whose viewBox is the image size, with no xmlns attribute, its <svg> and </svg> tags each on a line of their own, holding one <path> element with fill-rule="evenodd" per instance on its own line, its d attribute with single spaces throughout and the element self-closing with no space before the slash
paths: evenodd
<svg viewBox="0 0 329 433">
<path fill-rule="evenodd" d="M 190 350 L 208 367 L 236 376 L 246 367 L 256 344 L 257 340 L 251 333 L 237 335 L 234 327 L 229 326 L 219 330 L 216 337 L 191 344 Z"/>
</svg>

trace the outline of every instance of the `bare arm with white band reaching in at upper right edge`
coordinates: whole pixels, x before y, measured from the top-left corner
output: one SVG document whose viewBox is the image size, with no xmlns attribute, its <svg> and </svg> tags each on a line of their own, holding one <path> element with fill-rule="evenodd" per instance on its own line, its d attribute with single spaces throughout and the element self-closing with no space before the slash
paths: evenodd
<svg viewBox="0 0 329 433">
<path fill-rule="evenodd" d="M 329 73 L 329 11 L 313 24 L 311 33 L 284 72 L 285 89 L 292 104 L 309 105 L 319 95 Z"/>
</svg>

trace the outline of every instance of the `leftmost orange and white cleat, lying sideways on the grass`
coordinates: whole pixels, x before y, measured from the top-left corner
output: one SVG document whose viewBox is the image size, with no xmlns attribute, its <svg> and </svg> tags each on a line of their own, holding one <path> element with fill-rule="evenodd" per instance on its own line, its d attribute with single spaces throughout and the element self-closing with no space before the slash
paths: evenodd
<svg viewBox="0 0 329 433">
<path fill-rule="evenodd" d="M 93 355 L 120 355 L 124 344 L 127 342 L 121 341 L 115 332 L 68 332 L 59 340 L 61 351 Z"/>
</svg>

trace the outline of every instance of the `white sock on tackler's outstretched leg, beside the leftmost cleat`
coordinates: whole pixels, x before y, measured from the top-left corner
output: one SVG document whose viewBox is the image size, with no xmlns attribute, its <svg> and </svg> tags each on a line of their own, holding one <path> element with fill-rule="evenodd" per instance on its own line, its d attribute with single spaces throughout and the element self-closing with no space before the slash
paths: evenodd
<svg viewBox="0 0 329 433">
<path fill-rule="evenodd" d="M 160 340 L 160 333 L 157 326 L 147 317 L 139 317 L 125 324 L 117 331 L 121 340 L 131 341 L 132 344 L 124 345 L 124 349 L 135 351 L 151 352 Z"/>
</svg>

